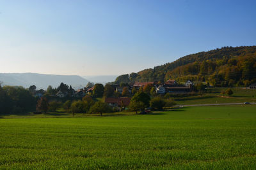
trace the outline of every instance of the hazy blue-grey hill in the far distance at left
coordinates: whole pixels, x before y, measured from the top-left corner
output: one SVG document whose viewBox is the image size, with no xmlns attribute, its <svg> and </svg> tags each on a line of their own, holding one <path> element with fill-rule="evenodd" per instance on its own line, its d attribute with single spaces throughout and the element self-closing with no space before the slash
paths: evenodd
<svg viewBox="0 0 256 170">
<path fill-rule="evenodd" d="M 49 85 L 58 87 L 61 82 L 72 85 L 74 89 L 85 87 L 88 80 L 81 76 L 65 76 L 37 73 L 0 73 L 0 82 L 3 85 L 22 86 L 28 88 L 35 85 L 37 89 L 47 89 Z"/>
</svg>

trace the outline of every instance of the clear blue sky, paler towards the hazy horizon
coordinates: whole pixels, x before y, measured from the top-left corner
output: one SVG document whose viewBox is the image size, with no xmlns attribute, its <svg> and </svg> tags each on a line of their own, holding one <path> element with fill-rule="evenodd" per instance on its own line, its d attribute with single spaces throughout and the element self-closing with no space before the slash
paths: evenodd
<svg viewBox="0 0 256 170">
<path fill-rule="evenodd" d="M 0 73 L 124 74 L 255 41 L 255 0 L 0 1 Z"/>
</svg>

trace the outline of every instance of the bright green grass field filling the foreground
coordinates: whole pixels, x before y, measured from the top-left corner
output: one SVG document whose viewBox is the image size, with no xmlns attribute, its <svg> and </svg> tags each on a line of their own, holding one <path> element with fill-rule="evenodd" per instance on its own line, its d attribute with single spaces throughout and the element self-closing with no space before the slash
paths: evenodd
<svg viewBox="0 0 256 170">
<path fill-rule="evenodd" d="M 256 106 L 1 118 L 0 169 L 255 169 Z"/>
</svg>

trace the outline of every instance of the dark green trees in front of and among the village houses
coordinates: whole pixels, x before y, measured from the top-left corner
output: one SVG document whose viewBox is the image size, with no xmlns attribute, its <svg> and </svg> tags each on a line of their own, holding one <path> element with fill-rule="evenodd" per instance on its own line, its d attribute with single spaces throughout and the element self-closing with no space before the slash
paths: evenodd
<svg viewBox="0 0 256 170">
<path fill-rule="evenodd" d="M 187 94 L 157 94 L 156 87 L 152 84 L 147 84 L 144 87 L 140 87 L 140 89 L 135 87 L 129 89 L 127 84 L 121 82 L 122 93 L 116 92 L 114 87 L 111 84 L 104 86 L 97 83 L 94 85 L 91 94 L 86 94 L 86 96 L 81 98 L 65 97 L 62 99 L 56 96 L 49 96 L 48 92 L 45 92 L 42 97 L 35 97 L 33 92 L 36 90 L 36 87 L 33 85 L 29 89 L 11 86 L 1 87 L 0 85 L 0 114 L 28 113 L 33 111 L 47 113 L 49 111 L 56 112 L 61 110 L 73 113 L 73 115 L 74 113 L 100 113 L 102 115 L 102 113 L 120 111 L 120 109 L 105 103 L 104 99 L 106 97 L 131 97 L 131 103 L 128 108 L 130 111 L 138 113 L 138 111 L 144 111 L 148 107 L 152 110 L 172 107 L 176 104 L 174 97 L 193 96 L 205 92 L 205 85 L 202 83 L 195 86 L 195 92 Z M 72 87 L 61 83 L 56 89 L 65 90 L 68 93 L 72 90 Z M 221 94 L 231 95 L 232 91 L 227 90 Z"/>
</svg>

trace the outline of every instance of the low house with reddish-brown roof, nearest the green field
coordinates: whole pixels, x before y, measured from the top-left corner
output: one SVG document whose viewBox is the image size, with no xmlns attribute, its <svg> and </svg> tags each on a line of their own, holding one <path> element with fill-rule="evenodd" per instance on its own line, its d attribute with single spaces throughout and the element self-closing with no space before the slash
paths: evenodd
<svg viewBox="0 0 256 170">
<path fill-rule="evenodd" d="M 105 103 L 112 107 L 127 107 L 130 102 L 130 97 L 106 97 L 105 99 Z"/>
</svg>

